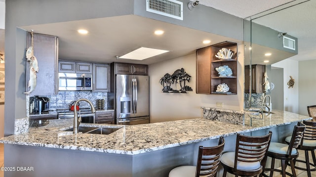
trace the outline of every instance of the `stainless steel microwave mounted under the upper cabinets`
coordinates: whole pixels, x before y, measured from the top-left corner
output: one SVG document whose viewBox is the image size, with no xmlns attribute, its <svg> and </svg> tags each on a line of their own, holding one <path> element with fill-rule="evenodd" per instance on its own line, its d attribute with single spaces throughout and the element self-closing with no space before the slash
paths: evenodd
<svg viewBox="0 0 316 177">
<path fill-rule="evenodd" d="M 92 74 L 58 73 L 58 90 L 80 91 L 92 90 Z"/>
</svg>

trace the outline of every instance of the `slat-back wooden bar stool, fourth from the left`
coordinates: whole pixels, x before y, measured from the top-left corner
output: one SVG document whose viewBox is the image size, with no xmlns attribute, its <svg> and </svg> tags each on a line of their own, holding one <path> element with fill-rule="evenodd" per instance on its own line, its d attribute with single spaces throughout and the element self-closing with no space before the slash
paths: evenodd
<svg viewBox="0 0 316 177">
<path fill-rule="evenodd" d="M 311 171 L 316 171 L 316 158 L 315 158 L 315 150 L 316 150 L 316 122 L 312 121 L 303 121 L 303 123 L 306 125 L 306 129 L 304 131 L 304 136 L 297 147 L 297 149 L 304 150 L 305 152 L 305 161 L 295 159 L 295 168 L 299 170 L 307 171 L 307 176 L 311 177 Z M 286 137 L 285 142 L 290 142 L 291 137 Z M 309 151 L 311 151 L 313 163 L 309 160 Z M 299 167 L 296 165 L 296 162 L 305 163 L 306 168 Z M 313 168 L 311 168 L 313 166 Z"/>
</svg>

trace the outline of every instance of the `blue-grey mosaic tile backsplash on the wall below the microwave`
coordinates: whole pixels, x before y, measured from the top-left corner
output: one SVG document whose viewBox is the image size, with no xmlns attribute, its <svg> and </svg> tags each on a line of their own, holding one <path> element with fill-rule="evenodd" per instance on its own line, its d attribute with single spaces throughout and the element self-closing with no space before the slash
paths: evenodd
<svg viewBox="0 0 316 177">
<path fill-rule="evenodd" d="M 69 108 L 69 104 L 78 99 L 84 98 L 90 100 L 94 107 L 96 107 L 97 100 L 104 100 L 104 107 L 108 107 L 108 93 L 107 92 L 90 92 L 90 91 L 59 91 L 57 95 L 49 95 L 50 99 L 49 109 Z M 27 99 L 29 100 L 29 99 Z M 79 102 L 80 107 L 90 107 L 87 102 Z"/>
</svg>

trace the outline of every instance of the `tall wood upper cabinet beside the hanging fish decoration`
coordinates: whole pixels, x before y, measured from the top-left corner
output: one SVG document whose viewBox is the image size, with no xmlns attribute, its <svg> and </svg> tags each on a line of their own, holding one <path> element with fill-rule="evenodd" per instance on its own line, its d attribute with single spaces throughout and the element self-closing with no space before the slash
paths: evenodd
<svg viewBox="0 0 316 177">
<path fill-rule="evenodd" d="M 58 38 L 52 35 L 34 33 L 34 56 L 37 58 L 39 72 L 37 85 L 30 93 L 34 95 L 55 95 L 57 93 Z M 32 35 L 27 34 L 27 48 L 31 46 Z M 26 59 L 25 59 L 26 60 Z M 30 63 L 26 66 L 26 91 L 29 91 Z"/>
</svg>

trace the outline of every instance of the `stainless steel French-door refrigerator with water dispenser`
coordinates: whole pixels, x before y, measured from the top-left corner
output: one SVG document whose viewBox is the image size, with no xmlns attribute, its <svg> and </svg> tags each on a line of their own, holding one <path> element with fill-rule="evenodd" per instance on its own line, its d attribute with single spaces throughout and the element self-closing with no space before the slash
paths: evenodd
<svg viewBox="0 0 316 177">
<path fill-rule="evenodd" d="M 115 76 L 116 124 L 149 123 L 149 76 Z"/>
</svg>

